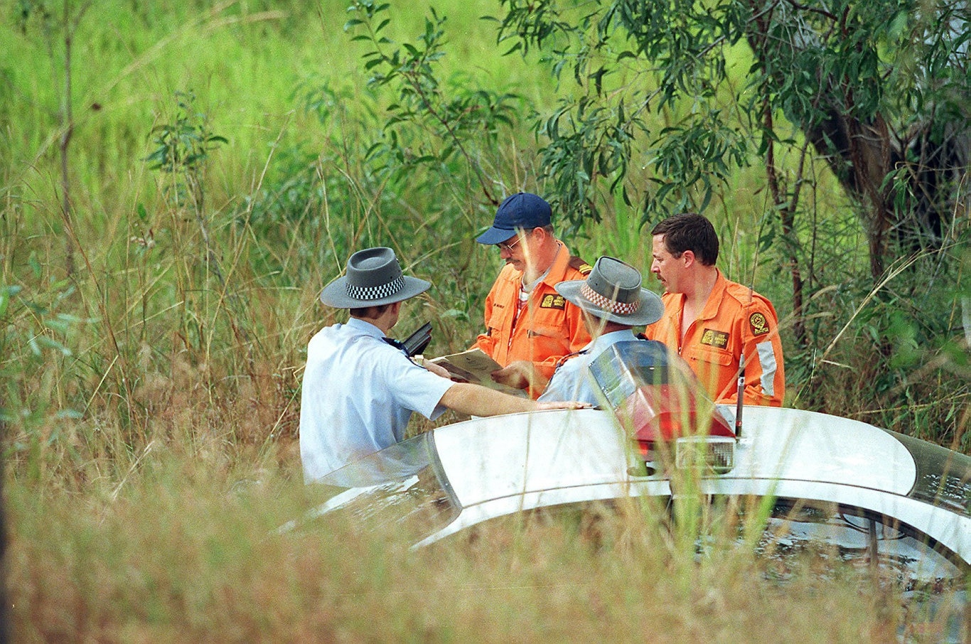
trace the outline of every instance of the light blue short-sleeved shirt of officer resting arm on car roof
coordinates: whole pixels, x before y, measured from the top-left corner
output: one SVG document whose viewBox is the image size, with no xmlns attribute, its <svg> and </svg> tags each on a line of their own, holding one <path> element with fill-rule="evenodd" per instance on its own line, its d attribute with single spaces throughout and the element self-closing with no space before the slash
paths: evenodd
<svg viewBox="0 0 971 644">
<path fill-rule="evenodd" d="M 435 420 L 452 381 L 352 318 L 318 331 L 307 347 L 300 395 L 300 460 L 310 483 L 404 438 L 413 412 Z"/>
</svg>

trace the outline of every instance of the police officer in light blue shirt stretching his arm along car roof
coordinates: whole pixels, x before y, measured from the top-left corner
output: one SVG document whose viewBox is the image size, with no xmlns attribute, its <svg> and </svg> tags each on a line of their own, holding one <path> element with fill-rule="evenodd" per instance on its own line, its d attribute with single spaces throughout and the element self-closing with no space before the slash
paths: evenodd
<svg viewBox="0 0 971 644">
<path fill-rule="evenodd" d="M 381 247 L 352 254 L 347 274 L 320 293 L 327 306 L 350 309 L 351 319 L 320 329 L 307 348 L 300 398 L 306 482 L 401 441 L 413 412 L 435 420 L 446 408 L 493 416 L 586 406 L 539 404 L 453 383 L 442 367 L 413 362 L 386 335 L 398 322 L 402 302 L 430 286 L 403 275 L 394 252 Z"/>
</svg>

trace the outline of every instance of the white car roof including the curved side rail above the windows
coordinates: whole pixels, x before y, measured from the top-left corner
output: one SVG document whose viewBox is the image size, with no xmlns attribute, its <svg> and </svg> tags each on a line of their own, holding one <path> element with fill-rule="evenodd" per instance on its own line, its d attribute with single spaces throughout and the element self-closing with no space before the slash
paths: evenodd
<svg viewBox="0 0 971 644">
<path fill-rule="evenodd" d="M 609 411 L 513 414 L 434 431 L 438 458 L 462 511 L 419 545 L 521 509 L 671 493 L 663 473 L 628 473 L 636 453 Z M 702 485 L 712 493 L 817 499 L 886 514 L 971 561 L 971 518 L 909 497 L 917 476 L 907 448 L 876 426 L 746 406 L 735 466 Z"/>
</svg>

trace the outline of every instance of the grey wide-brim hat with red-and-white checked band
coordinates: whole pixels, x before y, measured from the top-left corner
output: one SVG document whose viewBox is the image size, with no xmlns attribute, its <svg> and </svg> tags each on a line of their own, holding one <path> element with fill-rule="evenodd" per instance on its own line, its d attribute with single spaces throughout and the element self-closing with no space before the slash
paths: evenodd
<svg viewBox="0 0 971 644">
<path fill-rule="evenodd" d="M 555 288 L 601 320 L 640 326 L 653 324 L 664 314 L 661 298 L 641 288 L 641 272 L 616 257 L 600 257 L 586 280 L 560 282 Z"/>
</svg>

